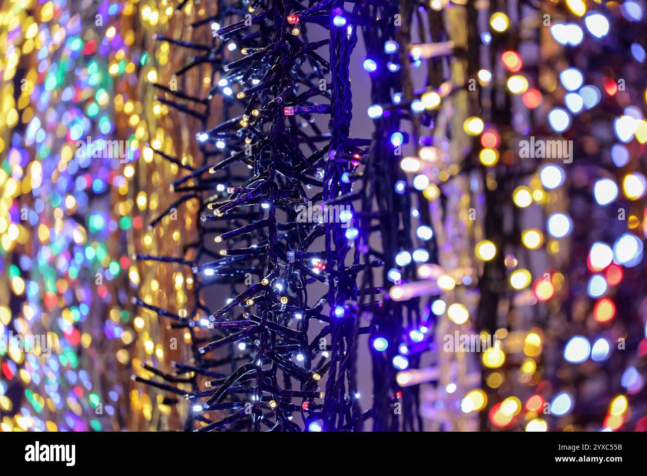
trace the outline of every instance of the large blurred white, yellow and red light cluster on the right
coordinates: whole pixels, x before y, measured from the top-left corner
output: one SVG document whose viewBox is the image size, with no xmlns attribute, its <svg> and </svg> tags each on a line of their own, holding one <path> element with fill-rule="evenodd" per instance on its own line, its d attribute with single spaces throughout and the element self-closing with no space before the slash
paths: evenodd
<svg viewBox="0 0 647 476">
<path fill-rule="evenodd" d="M 594 10 L 579 1 L 554 4 L 489 12 L 472 6 L 468 14 L 474 22 L 468 30 L 477 35 L 463 86 L 474 91 L 478 108 L 462 126 L 476 140 L 459 157 L 463 169 L 479 163 L 482 173 L 473 178 L 483 184 L 485 216 L 483 240 L 474 247 L 483 271 L 462 284 L 479 290 L 479 304 L 450 304 L 452 295 L 434 301 L 461 283 L 427 264 L 418 266 L 418 275 L 436 286 L 400 284 L 391 297 L 431 295 L 437 315 L 499 337 L 498 346 L 482 354 L 485 392 L 466 394 L 466 413 L 488 410 L 494 427 L 527 431 L 616 430 L 632 416 L 630 429 L 644 429 L 640 400 L 636 413 L 630 411 L 631 395 L 644 387 L 639 365 L 647 342 L 639 297 L 646 192 L 640 157 L 647 136 L 644 85 L 637 80 L 645 53 L 635 41 L 644 31 L 643 7 L 633 1 Z M 445 6 L 449 22 L 461 7 Z M 486 24 L 477 23 L 481 18 L 489 19 L 485 29 L 478 26 Z M 427 90 L 411 111 L 423 117 L 442 111 L 449 91 L 446 85 Z M 372 106 L 369 116 L 385 110 Z M 433 209 L 433 201 L 449 196 L 443 183 L 452 173 L 444 167 L 452 155 L 419 145 L 400 165 Z M 619 310 L 623 295 L 628 299 Z M 406 383 L 435 380 L 433 372 L 400 375 Z M 454 393 L 455 382 L 446 389 Z M 487 423 L 483 419 L 481 429 Z"/>
</svg>

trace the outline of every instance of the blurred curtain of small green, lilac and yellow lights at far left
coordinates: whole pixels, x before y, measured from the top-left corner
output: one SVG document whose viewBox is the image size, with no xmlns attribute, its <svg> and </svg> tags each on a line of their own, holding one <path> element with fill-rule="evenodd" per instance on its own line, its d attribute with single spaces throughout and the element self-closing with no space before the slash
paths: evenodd
<svg viewBox="0 0 647 476">
<path fill-rule="evenodd" d="M 129 225 L 109 207 L 123 177 L 115 174 L 122 157 L 106 144 L 115 88 L 135 71 L 126 60 L 133 31 L 120 21 L 132 12 L 108 1 L 85 10 L 65 0 L 3 6 L 3 431 L 118 429 L 126 415 L 116 352 L 133 335 L 116 283 L 124 287 L 129 260 L 110 238 Z"/>
</svg>

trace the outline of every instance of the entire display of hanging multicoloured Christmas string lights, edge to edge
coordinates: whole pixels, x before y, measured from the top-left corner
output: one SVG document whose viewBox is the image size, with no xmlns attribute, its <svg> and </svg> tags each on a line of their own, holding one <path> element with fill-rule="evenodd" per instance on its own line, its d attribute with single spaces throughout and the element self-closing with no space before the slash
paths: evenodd
<svg viewBox="0 0 647 476">
<path fill-rule="evenodd" d="M 3 431 L 647 429 L 642 1 L 2 12 Z"/>
</svg>

